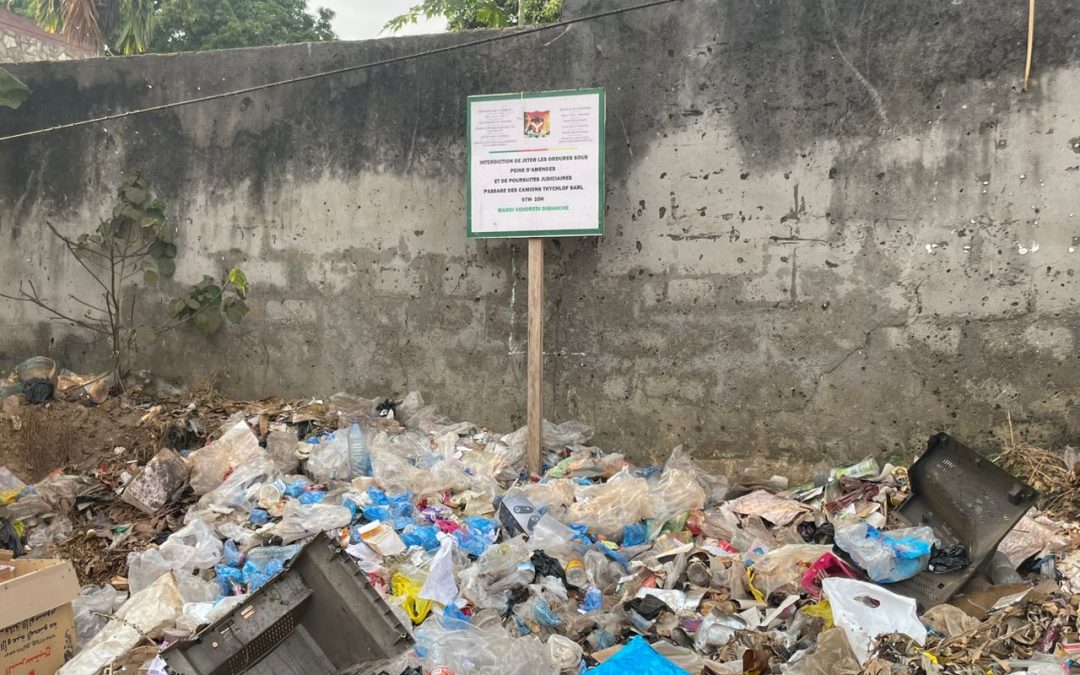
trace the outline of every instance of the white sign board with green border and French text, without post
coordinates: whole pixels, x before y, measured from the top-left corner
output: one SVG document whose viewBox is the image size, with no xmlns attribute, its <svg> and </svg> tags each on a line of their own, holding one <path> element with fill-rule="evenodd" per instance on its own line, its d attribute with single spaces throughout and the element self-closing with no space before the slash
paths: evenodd
<svg viewBox="0 0 1080 675">
<path fill-rule="evenodd" d="M 469 237 L 604 233 L 604 90 L 470 96 Z"/>
</svg>

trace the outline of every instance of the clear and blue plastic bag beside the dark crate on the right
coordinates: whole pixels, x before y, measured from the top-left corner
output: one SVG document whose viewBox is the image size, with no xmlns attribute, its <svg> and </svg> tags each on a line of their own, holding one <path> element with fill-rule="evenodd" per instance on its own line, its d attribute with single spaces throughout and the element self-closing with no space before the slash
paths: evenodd
<svg viewBox="0 0 1080 675">
<path fill-rule="evenodd" d="M 924 570 L 936 543 L 930 527 L 880 531 L 856 523 L 836 532 L 836 545 L 878 583 L 903 581 Z"/>
</svg>

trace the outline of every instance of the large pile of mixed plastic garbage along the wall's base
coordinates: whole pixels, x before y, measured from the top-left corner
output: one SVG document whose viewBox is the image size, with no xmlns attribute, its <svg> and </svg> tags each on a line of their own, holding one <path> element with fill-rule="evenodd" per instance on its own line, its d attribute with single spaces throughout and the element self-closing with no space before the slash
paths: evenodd
<svg viewBox="0 0 1080 675">
<path fill-rule="evenodd" d="M 120 480 L 0 470 L 0 549 L 129 551 L 75 602 L 66 675 L 167 672 L 163 647 L 271 588 L 322 534 L 414 643 L 363 673 L 1062 673 L 1080 651 L 1080 529 L 1025 514 L 1034 492 L 1011 477 L 1000 504 L 983 488 L 1008 523 L 973 559 L 985 546 L 941 525 L 947 495 L 905 521 L 918 463 L 795 486 L 711 475 L 679 447 L 635 467 L 592 433 L 545 421 L 529 476 L 524 429 L 454 422 L 416 393 L 338 394 L 234 416 Z M 945 581 L 958 593 L 929 605 Z"/>
</svg>

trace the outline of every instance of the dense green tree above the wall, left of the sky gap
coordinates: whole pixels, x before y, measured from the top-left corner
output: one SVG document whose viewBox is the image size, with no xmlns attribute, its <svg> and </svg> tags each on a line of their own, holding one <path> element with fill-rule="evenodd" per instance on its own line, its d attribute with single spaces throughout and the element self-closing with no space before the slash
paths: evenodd
<svg viewBox="0 0 1080 675">
<path fill-rule="evenodd" d="M 161 0 L 152 52 L 334 40 L 334 12 L 307 0 Z"/>
</svg>

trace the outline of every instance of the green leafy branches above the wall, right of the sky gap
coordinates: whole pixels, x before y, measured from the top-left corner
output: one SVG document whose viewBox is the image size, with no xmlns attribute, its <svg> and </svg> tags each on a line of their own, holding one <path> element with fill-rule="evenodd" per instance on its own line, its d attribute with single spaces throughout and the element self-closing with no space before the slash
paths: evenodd
<svg viewBox="0 0 1080 675">
<path fill-rule="evenodd" d="M 521 1 L 525 3 L 525 25 L 550 24 L 563 15 L 563 0 Z M 421 16 L 445 16 L 450 30 L 505 28 L 517 26 L 521 10 L 518 0 L 423 0 L 387 22 L 383 30 L 401 30 L 417 23 Z"/>
</svg>

